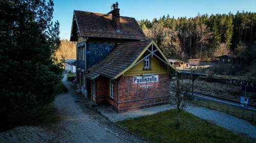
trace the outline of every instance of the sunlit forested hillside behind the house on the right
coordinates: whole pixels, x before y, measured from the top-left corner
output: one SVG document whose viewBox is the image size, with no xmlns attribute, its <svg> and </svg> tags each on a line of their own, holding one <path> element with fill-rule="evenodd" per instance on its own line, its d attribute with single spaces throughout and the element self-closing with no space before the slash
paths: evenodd
<svg viewBox="0 0 256 143">
<path fill-rule="evenodd" d="M 255 12 L 198 14 L 192 18 L 167 15 L 138 23 L 169 58 L 210 61 L 222 54 L 238 54 L 255 67 Z"/>
</svg>

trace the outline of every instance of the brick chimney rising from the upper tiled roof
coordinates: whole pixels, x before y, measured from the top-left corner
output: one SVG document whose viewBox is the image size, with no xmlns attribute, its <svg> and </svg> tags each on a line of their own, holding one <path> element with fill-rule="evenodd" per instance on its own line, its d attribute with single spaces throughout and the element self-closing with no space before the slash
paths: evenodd
<svg viewBox="0 0 256 143">
<path fill-rule="evenodd" d="M 111 8 L 112 11 L 109 12 L 109 14 L 112 14 L 112 21 L 114 23 L 116 32 L 120 32 L 120 9 L 118 9 L 118 3 L 116 2 L 116 4 L 113 4 Z"/>
</svg>

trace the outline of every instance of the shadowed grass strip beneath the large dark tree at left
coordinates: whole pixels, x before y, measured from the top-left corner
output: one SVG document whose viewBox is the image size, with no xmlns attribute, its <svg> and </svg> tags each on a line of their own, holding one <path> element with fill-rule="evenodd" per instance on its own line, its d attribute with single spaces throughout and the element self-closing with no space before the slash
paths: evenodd
<svg viewBox="0 0 256 143">
<path fill-rule="evenodd" d="M 8 123 L 5 123 L 0 132 L 17 126 L 39 126 L 58 121 L 58 114 L 53 103 L 45 104 L 24 112 L 10 113 Z"/>
</svg>

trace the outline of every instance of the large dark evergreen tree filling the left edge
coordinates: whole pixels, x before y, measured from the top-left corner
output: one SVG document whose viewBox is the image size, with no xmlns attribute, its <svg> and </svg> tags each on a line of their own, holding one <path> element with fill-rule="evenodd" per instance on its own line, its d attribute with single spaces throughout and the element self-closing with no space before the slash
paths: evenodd
<svg viewBox="0 0 256 143">
<path fill-rule="evenodd" d="M 51 21 L 52 0 L 3 0 L 0 17 L 0 113 L 5 118 L 51 102 L 62 70 L 54 59 L 60 41 L 59 23 Z"/>
</svg>

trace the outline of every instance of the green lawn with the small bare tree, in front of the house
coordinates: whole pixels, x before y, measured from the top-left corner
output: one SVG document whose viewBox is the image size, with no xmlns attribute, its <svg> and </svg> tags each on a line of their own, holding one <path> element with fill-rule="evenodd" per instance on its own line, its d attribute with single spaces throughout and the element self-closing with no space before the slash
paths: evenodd
<svg viewBox="0 0 256 143">
<path fill-rule="evenodd" d="M 168 110 L 141 118 L 126 119 L 117 124 L 152 142 L 253 142 L 188 112 L 181 113 L 181 127 L 175 127 L 177 111 Z"/>
</svg>

